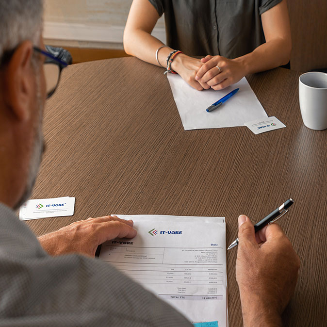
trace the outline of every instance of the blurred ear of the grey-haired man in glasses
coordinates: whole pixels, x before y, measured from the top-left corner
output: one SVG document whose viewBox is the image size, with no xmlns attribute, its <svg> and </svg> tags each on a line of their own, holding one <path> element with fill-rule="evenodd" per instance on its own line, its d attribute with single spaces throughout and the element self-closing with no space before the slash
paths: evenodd
<svg viewBox="0 0 327 327">
<path fill-rule="evenodd" d="M 32 68 L 33 44 L 24 41 L 15 50 L 5 69 L 4 100 L 20 121 L 30 118 L 30 103 L 35 92 Z"/>
</svg>

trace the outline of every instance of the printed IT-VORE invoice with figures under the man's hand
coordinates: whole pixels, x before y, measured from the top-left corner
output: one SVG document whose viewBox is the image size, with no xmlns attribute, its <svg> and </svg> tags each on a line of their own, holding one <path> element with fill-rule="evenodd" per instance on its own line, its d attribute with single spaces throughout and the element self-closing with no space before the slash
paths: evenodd
<svg viewBox="0 0 327 327">
<path fill-rule="evenodd" d="M 228 326 L 226 228 L 223 217 L 117 215 L 137 236 L 101 246 L 110 262 L 191 322 Z"/>
</svg>

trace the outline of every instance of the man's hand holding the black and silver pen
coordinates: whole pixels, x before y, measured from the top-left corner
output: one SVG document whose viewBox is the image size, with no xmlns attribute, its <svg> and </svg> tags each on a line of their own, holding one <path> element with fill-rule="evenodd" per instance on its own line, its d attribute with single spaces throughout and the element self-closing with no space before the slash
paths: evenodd
<svg viewBox="0 0 327 327">
<path fill-rule="evenodd" d="M 294 293 L 300 260 L 282 231 L 271 224 L 254 233 L 239 216 L 236 280 L 244 327 L 281 326 L 280 315 Z"/>
</svg>

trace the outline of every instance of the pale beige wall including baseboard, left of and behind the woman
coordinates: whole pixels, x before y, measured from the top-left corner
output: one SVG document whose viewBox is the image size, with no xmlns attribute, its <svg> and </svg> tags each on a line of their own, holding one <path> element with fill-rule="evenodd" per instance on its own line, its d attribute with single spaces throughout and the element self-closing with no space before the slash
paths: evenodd
<svg viewBox="0 0 327 327">
<path fill-rule="evenodd" d="M 132 0 L 45 0 L 44 38 L 48 44 L 122 49 Z M 165 41 L 163 17 L 152 33 Z"/>
</svg>

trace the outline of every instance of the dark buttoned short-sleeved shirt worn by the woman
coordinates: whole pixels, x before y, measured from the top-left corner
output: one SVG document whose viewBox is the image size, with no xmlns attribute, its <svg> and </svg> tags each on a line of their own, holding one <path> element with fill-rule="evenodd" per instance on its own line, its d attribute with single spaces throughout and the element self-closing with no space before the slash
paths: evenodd
<svg viewBox="0 0 327 327">
<path fill-rule="evenodd" d="M 282 0 L 149 0 L 164 13 L 166 44 L 188 55 L 230 59 L 265 42 L 261 14 Z"/>
</svg>

